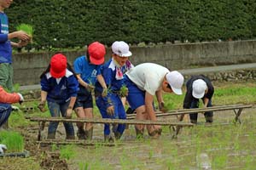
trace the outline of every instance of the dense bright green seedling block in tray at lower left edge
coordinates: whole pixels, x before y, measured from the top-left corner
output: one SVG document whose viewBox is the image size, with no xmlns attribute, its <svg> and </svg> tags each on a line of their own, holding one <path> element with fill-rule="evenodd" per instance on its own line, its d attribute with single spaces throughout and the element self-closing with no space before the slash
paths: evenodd
<svg viewBox="0 0 256 170">
<path fill-rule="evenodd" d="M 20 152 L 24 150 L 24 139 L 20 133 L 2 131 L 0 133 L 0 142 L 7 146 L 8 152 Z"/>
</svg>

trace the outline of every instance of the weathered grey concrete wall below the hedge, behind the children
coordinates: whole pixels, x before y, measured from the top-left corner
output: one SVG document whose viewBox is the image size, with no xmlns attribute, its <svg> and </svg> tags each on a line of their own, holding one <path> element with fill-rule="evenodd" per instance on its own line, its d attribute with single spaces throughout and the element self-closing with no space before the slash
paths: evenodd
<svg viewBox="0 0 256 170">
<path fill-rule="evenodd" d="M 165 44 L 148 47 L 131 47 L 131 62 L 138 65 L 153 62 L 170 70 L 198 66 L 231 65 L 256 62 L 256 41 L 202 42 Z M 53 53 L 15 54 L 15 83 L 20 85 L 38 84 L 39 76 L 49 64 Z M 65 52 L 70 63 L 84 51 Z M 108 48 L 107 59 L 110 56 Z M 107 60 L 106 59 L 106 60 Z"/>
</svg>

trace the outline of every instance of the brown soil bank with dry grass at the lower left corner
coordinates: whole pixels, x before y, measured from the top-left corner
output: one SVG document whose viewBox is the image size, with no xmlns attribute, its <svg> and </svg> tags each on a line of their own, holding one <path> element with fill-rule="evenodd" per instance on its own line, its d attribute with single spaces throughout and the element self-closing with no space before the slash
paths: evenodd
<svg viewBox="0 0 256 170">
<path fill-rule="evenodd" d="M 15 129 L 19 131 L 25 139 L 25 150 L 30 152 L 28 158 L 4 157 L 0 159 L 1 169 L 55 169 L 67 170 L 67 161 L 61 159 L 58 151 L 51 151 L 49 145 L 42 146 L 37 143 L 38 130 L 37 127 L 20 127 Z M 26 159 L 32 161 L 26 162 Z"/>
</svg>

